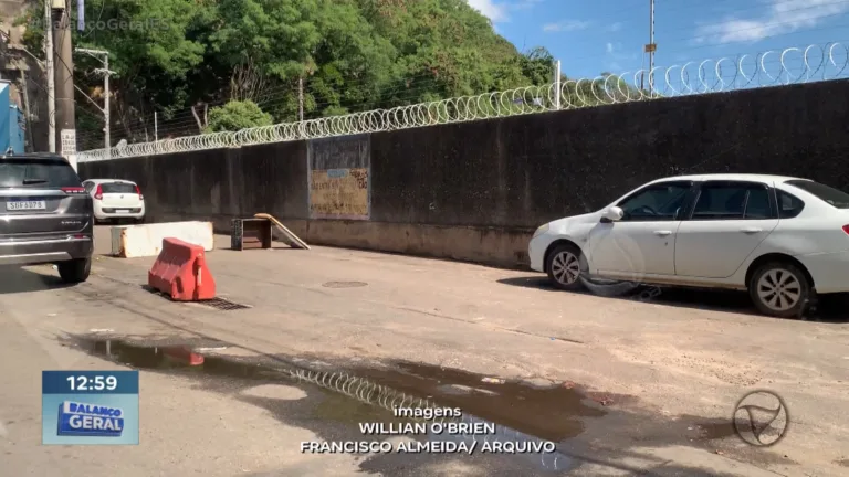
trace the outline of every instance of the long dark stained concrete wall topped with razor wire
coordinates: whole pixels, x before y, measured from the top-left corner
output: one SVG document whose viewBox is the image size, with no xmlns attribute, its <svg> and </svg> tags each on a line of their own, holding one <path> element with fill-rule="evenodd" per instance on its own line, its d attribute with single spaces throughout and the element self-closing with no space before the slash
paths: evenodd
<svg viewBox="0 0 849 477">
<path fill-rule="evenodd" d="M 307 243 L 515 266 L 526 263 L 537 225 L 597 210 L 658 177 L 782 173 L 847 190 L 847 110 L 849 82 L 836 81 L 352 138 L 359 151 L 368 142 L 370 157 L 352 152 L 329 167 L 368 166 L 368 220 L 311 219 L 308 177 L 317 166 L 307 157 L 317 142 L 80 170 L 138 181 L 157 221 L 213 220 L 229 231 L 232 218 L 268 212 Z"/>
</svg>

